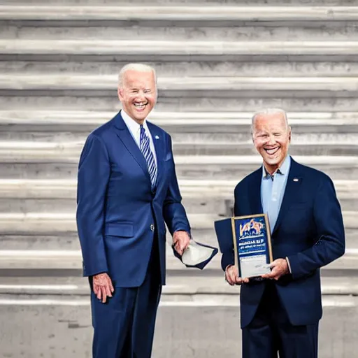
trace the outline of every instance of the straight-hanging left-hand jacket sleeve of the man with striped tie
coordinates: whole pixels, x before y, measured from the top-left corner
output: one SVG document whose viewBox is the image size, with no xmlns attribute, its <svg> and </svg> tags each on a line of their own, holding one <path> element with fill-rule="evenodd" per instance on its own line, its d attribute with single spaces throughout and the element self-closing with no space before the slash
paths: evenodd
<svg viewBox="0 0 358 358">
<path fill-rule="evenodd" d="M 77 184 L 77 228 L 85 276 L 108 272 L 103 242 L 104 204 L 110 176 L 108 152 L 90 134 L 80 156 Z"/>
</svg>

